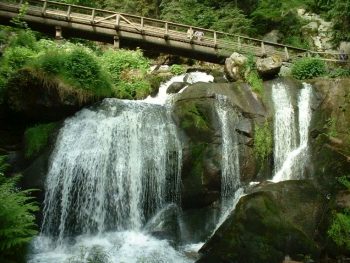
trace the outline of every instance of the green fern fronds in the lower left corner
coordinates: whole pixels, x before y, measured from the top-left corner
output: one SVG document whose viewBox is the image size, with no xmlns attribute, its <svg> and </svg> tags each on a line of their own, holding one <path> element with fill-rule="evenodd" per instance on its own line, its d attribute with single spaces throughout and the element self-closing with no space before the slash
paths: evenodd
<svg viewBox="0 0 350 263">
<path fill-rule="evenodd" d="M 38 205 L 29 194 L 19 190 L 19 176 L 4 176 L 5 158 L 0 157 L 0 259 L 23 260 L 25 245 L 37 234 L 33 212 Z M 18 260 L 18 261 L 17 261 Z"/>
</svg>

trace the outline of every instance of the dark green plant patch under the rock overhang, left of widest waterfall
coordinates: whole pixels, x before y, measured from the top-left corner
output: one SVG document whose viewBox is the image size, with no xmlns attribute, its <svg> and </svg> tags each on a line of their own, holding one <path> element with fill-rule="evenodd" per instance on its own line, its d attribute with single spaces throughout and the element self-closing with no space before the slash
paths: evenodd
<svg viewBox="0 0 350 263">
<path fill-rule="evenodd" d="M 28 128 L 24 133 L 25 156 L 31 158 L 37 155 L 47 145 L 56 127 L 56 123 L 48 123 Z"/>
</svg>

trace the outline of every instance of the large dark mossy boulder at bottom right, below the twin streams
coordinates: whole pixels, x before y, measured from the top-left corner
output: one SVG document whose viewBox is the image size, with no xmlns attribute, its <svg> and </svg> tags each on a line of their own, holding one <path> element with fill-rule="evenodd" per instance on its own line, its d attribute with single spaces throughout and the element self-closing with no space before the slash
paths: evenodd
<svg viewBox="0 0 350 263">
<path fill-rule="evenodd" d="M 235 211 L 201 248 L 197 263 L 280 263 L 286 255 L 296 260 L 310 255 L 318 262 L 315 231 L 322 202 L 307 181 L 258 187 L 241 198 Z"/>
</svg>

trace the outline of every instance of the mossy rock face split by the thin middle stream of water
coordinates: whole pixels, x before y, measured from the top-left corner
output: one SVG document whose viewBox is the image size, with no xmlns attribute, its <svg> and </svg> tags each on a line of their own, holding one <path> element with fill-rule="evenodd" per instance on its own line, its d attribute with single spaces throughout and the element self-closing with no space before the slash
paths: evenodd
<svg viewBox="0 0 350 263">
<path fill-rule="evenodd" d="M 241 144 L 241 180 L 256 175 L 251 145 L 253 123 L 266 112 L 247 85 L 197 83 L 178 94 L 174 119 L 183 132 L 182 201 L 185 208 L 207 206 L 218 200 L 221 189 L 221 128 L 217 96 L 225 96 L 229 110 L 239 116 L 236 130 Z M 232 120 L 233 121 L 233 120 Z"/>
</svg>

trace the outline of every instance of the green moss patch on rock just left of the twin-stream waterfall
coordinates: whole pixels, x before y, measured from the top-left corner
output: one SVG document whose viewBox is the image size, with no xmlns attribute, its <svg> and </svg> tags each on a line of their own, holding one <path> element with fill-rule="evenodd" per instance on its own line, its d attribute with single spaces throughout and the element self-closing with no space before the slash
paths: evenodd
<svg viewBox="0 0 350 263">
<path fill-rule="evenodd" d="M 266 121 L 263 126 L 255 126 L 254 131 L 254 154 L 261 162 L 265 161 L 273 149 L 273 137 L 269 123 Z"/>
</svg>

